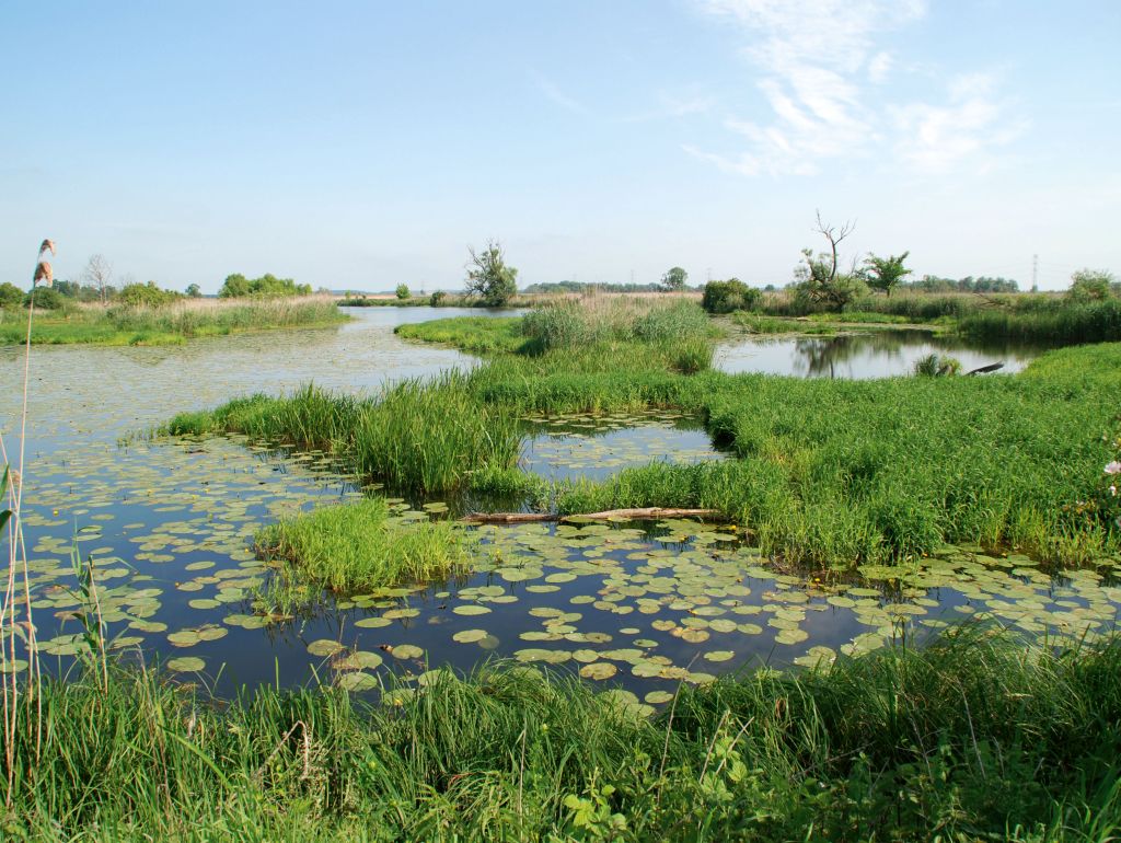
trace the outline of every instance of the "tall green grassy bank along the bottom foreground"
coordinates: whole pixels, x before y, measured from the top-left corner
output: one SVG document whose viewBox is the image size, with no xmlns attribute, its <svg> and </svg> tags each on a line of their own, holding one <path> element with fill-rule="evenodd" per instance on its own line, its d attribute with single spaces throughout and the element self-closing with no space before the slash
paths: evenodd
<svg viewBox="0 0 1121 843">
<path fill-rule="evenodd" d="M 980 629 L 683 688 L 652 717 L 502 666 L 387 704 L 268 687 L 215 704 L 113 670 L 22 703 L 43 730 L 17 733 L 3 835 L 1104 842 L 1119 701 L 1117 640 L 1055 654 Z"/>
</svg>

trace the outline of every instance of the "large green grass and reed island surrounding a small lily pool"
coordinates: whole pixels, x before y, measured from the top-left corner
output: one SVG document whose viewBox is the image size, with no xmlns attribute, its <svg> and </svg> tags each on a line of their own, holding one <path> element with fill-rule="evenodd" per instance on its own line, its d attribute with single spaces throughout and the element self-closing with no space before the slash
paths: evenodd
<svg viewBox="0 0 1121 843">
<path fill-rule="evenodd" d="M 695 305 L 633 302 L 410 325 L 400 333 L 487 349 L 488 362 L 377 398 L 256 396 L 166 432 L 323 448 L 420 494 L 521 490 L 560 513 L 712 509 L 791 564 L 850 569 L 945 544 L 1065 563 L 1117 553 L 1103 466 L 1121 345 L 1054 351 L 1015 376 L 827 381 L 712 371 L 717 331 Z M 735 458 L 552 485 L 517 469 L 521 416 L 648 408 L 700 416 Z"/>
</svg>

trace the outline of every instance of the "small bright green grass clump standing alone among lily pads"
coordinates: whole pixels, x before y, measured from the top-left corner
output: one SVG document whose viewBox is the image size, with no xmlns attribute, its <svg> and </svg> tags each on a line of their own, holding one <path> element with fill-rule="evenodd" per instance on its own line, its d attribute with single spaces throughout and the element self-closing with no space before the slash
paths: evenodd
<svg viewBox="0 0 1121 843">
<path fill-rule="evenodd" d="M 353 593 L 427 582 L 465 568 L 467 537 L 450 521 L 392 518 L 383 498 L 323 507 L 262 528 L 258 553 L 302 582 Z"/>
</svg>

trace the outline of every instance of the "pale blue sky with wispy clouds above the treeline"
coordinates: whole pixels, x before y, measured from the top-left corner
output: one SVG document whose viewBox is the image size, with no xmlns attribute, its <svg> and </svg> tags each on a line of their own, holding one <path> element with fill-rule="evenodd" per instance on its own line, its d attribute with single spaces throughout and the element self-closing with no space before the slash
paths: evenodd
<svg viewBox="0 0 1121 843">
<path fill-rule="evenodd" d="M 0 281 L 1121 275 L 1117 0 L 0 0 Z M 25 282 L 26 281 L 26 282 Z"/>
</svg>

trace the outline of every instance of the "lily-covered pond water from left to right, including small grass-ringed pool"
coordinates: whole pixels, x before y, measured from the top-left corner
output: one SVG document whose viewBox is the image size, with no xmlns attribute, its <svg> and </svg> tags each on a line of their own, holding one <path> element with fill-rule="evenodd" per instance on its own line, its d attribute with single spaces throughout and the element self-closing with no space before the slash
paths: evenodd
<svg viewBox="0 0 1121 843">
<path fill-rule="evenodd" d="M 945 548 L 908 566 L 815 578 L 760 556 L 734 525 L 686 520 L 480 527 L 462 576 L 324 599 L 276 622 L 254 615 L 252 595 L 271 575 L 252 550 L 256 530 L 359 494 L 358 479 L 335 473 L 325 455 L 288 456 L 235 436 L 127 437 L 234 395 L 313 379 L 376 390 L 474 365 L 391 333 L 401 322 L 452 315 L 363 308 L 339 328 L 163 349 L 34 349 L 25 527 L 44 666 L 67 669 L 78 646 L 75 552 L 94 561 L 117 651 L 164 660 L 219 693 L 336 673 L 361 689 L 390 670 L 415 677 L 426 666 L 470 669 L 507 657 L 658 704 L 682 680 L 859 652 L 965 615 L 1075 636 L 1117 617 L 1115 567 L 1043 572 L 1026 557 Z M 0 351 L 9 447 L 21 370 L 18 350 Z M 524 465 L 556 478 L 608 476 L 651 458 L 723 458 L 695 419 L 673 413 L 525 424 Z M 395 509 L 428 517 L 404 502 Z"/>
</svg>

